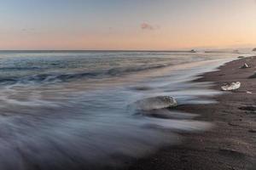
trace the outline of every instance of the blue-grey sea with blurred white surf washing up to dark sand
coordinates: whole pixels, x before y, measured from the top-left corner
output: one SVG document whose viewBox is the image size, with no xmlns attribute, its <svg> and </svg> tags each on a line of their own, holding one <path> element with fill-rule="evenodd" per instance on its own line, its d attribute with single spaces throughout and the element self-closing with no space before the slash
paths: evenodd
<svg viewBox="0 0 256 170">
<path fill-rule="evenodd" d="M 154 51 L 0 52 L 0 169 L 119 166 L 211 122 L 137 101 L 172 96 L 178 105 L 210 104 L 212 82 L 191 82 L 234 53 Z M 152 104 L 150 104 L 152 105 Z M 154 104 L 153 104 L 154 105 Z M 155 104 L 157 105 L 157 104 Z"/>
</svg>

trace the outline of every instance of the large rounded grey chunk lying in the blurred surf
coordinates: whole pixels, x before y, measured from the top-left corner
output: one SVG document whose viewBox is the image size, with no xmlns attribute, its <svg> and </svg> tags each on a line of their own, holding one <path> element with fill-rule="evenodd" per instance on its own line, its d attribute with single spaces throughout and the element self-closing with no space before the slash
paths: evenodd
<svg viewBox="0 0 256 170">
<path fill-rule="evenodd" d="M 170 96 L 157 96 L 136 102 L 137 110 L 151 111 L 177 106 L 177 101 Z"/>
</svg>

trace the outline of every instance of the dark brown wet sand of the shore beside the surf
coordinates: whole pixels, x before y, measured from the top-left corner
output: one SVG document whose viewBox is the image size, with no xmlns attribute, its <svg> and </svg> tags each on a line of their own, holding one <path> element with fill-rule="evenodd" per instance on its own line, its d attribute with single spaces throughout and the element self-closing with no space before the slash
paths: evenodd
<svg viewBox="0 0 256 170">
<path fill-rule="evenodd" d="M 251 68 L 240 69 L 247 63 Z M 127 170 L 255 170 L 256 169 L 256 57 L 237 59 L 208 72 L 195 82 L 241 82 L 241 88 L 213 97 L 217 104 L 179 105 L 177 110 L 200 114 L 197 119 L 213 122 L 205 133 L 181 134 L 183 144 L 162 148 L 139 159 Z M 255 105 L 255 108 L 252 107 Z"/>
</svg>

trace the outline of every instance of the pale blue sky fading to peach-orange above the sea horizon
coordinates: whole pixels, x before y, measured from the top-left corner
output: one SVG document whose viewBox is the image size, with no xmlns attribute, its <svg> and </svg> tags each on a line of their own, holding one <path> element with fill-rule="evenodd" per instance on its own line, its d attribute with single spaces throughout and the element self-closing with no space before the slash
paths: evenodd
<svg viewBox="0 0 256 170">
<path fill-rule="evenodd" d="M 256 47 L 256 0 L 0 0 L 0 49 Z"/>
</svg>

